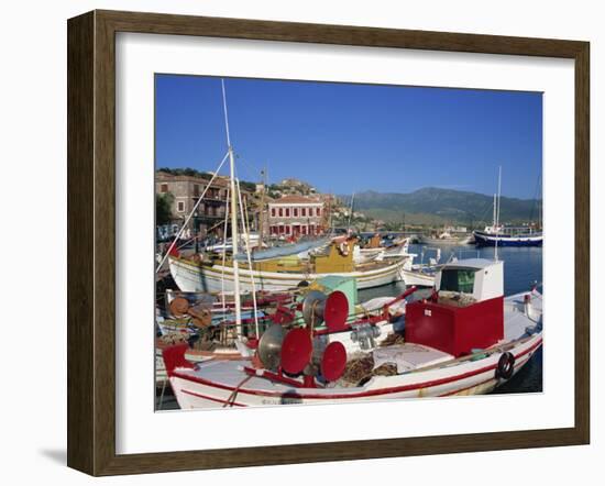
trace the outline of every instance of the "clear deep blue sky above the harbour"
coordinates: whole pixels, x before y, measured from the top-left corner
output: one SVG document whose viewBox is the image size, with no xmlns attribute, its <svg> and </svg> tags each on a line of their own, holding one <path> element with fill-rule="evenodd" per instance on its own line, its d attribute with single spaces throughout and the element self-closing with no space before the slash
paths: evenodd
<svg viewBox="0 0 605 486">
<path fill-rule="evenodd" d="M 542 167 L 536 92 L 226 79 L 239 176 L 318 190 L 442 187 L 532 198 Z M 227 152 L 220 78 L 156 75 L 156 166 L 215 170 Z"/>
</svg>

